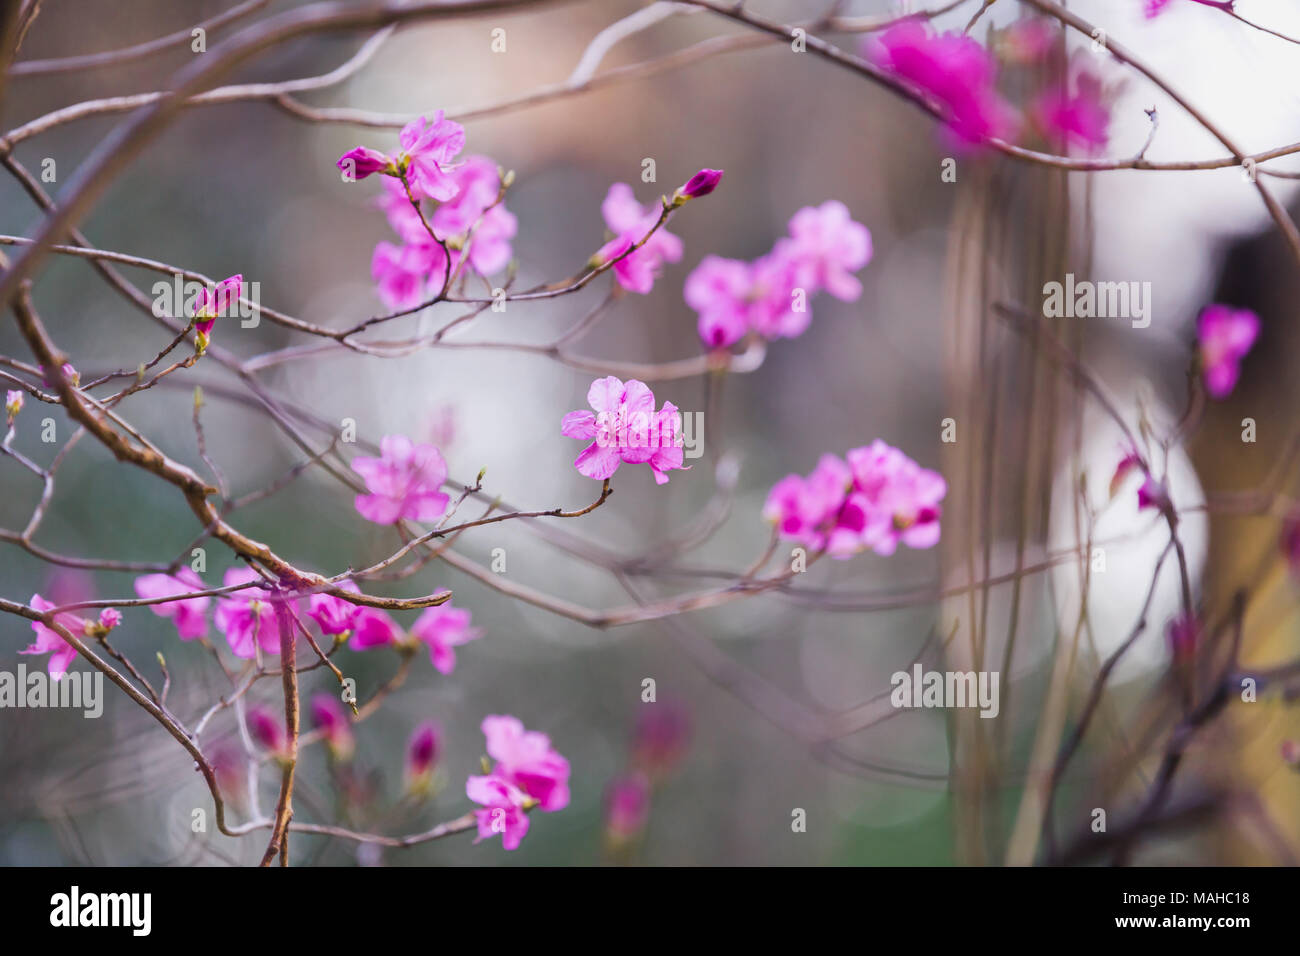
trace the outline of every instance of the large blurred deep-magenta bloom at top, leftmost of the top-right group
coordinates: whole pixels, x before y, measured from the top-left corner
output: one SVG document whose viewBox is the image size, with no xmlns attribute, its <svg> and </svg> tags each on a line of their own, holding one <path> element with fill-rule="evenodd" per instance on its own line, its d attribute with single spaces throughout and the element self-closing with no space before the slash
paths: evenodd
<svg viewBox="0 0 1300 956">
<path fill-rule="evenodd" d="M 868 39 L 864 56 L 935 100 L 958 143 L 1005 139 L 1014 114 L 996 88 L 988 51 L 958 33 L 935 34 L 909 20 Z"/>
</svg>

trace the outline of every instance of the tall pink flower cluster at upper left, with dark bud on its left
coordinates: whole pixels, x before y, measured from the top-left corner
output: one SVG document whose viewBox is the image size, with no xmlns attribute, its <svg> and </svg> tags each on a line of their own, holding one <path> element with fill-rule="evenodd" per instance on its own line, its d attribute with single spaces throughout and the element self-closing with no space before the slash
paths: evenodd
<svg viewBox="0 0 1300 956">
<path fill-rule="evenodd" d="M 441 109 L 432 121 L 420 117 L 408 124 L 399 140 L 402 152 L 395 157 L 359 146 L 337 165 L 354 179 L 390 177 L 378 206 L 402 245 L 378 243 L 370 276 L 389 308 L 407 310 L 442 290 L 462 256 L 485 276 L 504 268 L 519 224 L 502 204 L 507 182 L 497 164 L 486 156 L 456 160 L 465 148 L 465 130 Z M 426 200 L 436 203 L 432 215 L 425 212 Z"/>
</svg>

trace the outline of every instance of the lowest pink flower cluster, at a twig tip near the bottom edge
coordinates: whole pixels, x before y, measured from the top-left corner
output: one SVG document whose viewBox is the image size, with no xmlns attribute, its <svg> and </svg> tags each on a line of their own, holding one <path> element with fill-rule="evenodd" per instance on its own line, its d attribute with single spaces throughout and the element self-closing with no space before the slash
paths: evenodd
<svg viewBox="0 0 1300 956">
<path fill-rule="evenodd" d="M 552 813 L 568 806 L 569 763 L 549 736 L 524 730 L 517 718 L 486 717 L 482 732 L 488 756 L 497 762 L 488 774 L 465 780 L 465 795 L 484 808 L 474 810 L 478 840 L 500 834 L 506 849 L 517 849 L 529 809 Z"/>
</svg>

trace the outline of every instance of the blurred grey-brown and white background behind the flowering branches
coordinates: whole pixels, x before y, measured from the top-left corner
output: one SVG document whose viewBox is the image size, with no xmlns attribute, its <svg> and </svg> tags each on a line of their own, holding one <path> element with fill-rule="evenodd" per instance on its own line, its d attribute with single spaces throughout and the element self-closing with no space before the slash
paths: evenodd
<svg viewBox="0 0 1300 956">
<path fill-rule="evenodd" d="M 266 9 L 294 5 L 277 1 Z M 816 17 L 826 5 L 767 0 L 750 7 L 793 22 Z M 936 23 L 961 30 L 978 5 L 963 4 Z M 130 46 L 188 29 L 226 7 L 209 0 L 47 0 L 20 59 Z M 354 78 L 302 100 L 394 114 L 445 108 L 455 116 L 564 81 L 601 30 L 641 7 L 568 3 L 403 27 Z M 1300 31 L 1295 10 L 1268 3 L 1240 7 L 1279 30 Z M 1247 148 L 1300 139 L 1297 94 L 1288 82 L 1300 48 L 1209 9 L 1176 9 L 1148 22 L 1135 0 L 1075 1 L 1070 8 L 1105 23 Z M 852 16 L 893 12 L 866 0 L 842 5 Z M 991 27 L 1020 13 L 1011 0 L 1001 0 L 972 35 L 983 40 Z M 244 23 L 209 36 L 209 51 Z M 504 52 L 491 49 L 497 29 L 506 31 Z M 680 13 L 618 44 L 602 69 L 744 33 L 710 13 Z M 828 36 L 853 51 L 861 43 L 848 33 Z M 318 75 L 347 60 L 363 39 L 296 40 L 230 82 Z M 1091 68 L 1113 85 L 1106 155 L 1131 156 L 1143 147 L 1150 127 L 1144 109 L 1152 107 L 1160 127 L 1149 159 L 1223 155 L 1153 86 L 1075 38 L 1070 49 L 1071 64 L 1091 57 Z M 108 69 L 14 77 L 4 129 L 82 100 L 165 88 L 194 56 L 182 46 Z M 1009 65 L 1005 90 L 1023 101 L 1062 69 L 1060 61 Z M 21 143 L 14 156 L 31 170 L 52 159 L 57 178 L 46 189 L 57 198 L 125 116 L 61 125 Z M 1052 563 L 1050 557 L 1076 548 L 1079 475 L 1087 473 L 1093 498 L 1104 493 L 1119 457 L 1118 431 L 991 306 L 1011 302 L 1037 311 L 1043 284 L 1066 272 L 1150 282 L 1149 328 L 1060 320 L 1057 334 L 1083 355 L 1134 423 L 1144 407 L 1166 429 L 1186 403 L 1197 311 L 1214 300 L 1254 308 L 1264 332 L 1242 384 L 1228 402 L 1209 408 L 1187 445 L 1170 449 L 1170 480 L 1175 499 L 1188 505 L 1204 503 L 1209 492 L 1258 486 L 1296 427 L 1300 395 L 1287 364 L 1300 349 L 1294 321 L 1300 290 L 1295 263 L 1242 170 L 1089 177 L 994 155 L 954 156 L 930 117 L 862 77 L 776 40 L 464 122 L 467 152 L 516 172 L 507 204 L 520 224 L 520 287 L 578 271 L 603 243 L 599 204 L 611 182 L 632 183 L 638 199 L 650 203 L 701 166 L 725 169 L 712 196 L 672 221 L 685 245 L 682 261 L 667 268 L 651 294 L 621 297 L 610 317 L 577 342 L 575 351 L 593 359 L 649 363 L 698 355 L 696 313 L 681 297 L 686 274 L 710 254 L 764 254 L 801 207 L 838 199 L 874 238 L 861 299 L 815 299 L 809 332 L 774 343 L 757 371 L 727 376 L 712 406 L 705 377 L 654 384 L 660 401 L 685 412 L 708 408 L 705 454 L 688 462 L 692 471 L 673 472 L 660 488 L 645 470 L 624 470 L 606 506 L 558 531 L 628 558 L 656 553 L 660 567 L 633 576 L 645 600 L 718 587 L 766 548 L 760 511 L 776 480 L 807 473 L 823 453 L 842 454 L 881 438 L 948 479 L 944 540 L 928 551 L 818 562 L 781 592 L 604 631 L 508 600 L 447 564 L 430 564 L 391 593 L 451 588 L 455 604 L 473 611 L 486 636 L 460 650 L 451 676 L 416 661 L 406 684 L 358 726 L 346 786 L 326 767 L 320 748 L 307 752 L 295 821 L 400 834 L 460 816 L 472 806 L 463 782 L 478 773 L 478 724 L 494 713 L 515 714 L 551 736 L 572 762 L 572 804 L 534 814 L 514 853 L 494 843 L 476 847 L 471 835 L 400 852 L 295 835 L 295 862 L 945 865 L 1014 861 L 1026 852 L 1035 858 L 1020 821 L 1027 767 L 1044 747 L 1040 727 L 1053 719 L 1049 688 L 1061 682 L 1066 713 L 1056 719 L 1067 728 L 1100 659 L 1138 619 L 1167 535 L 1139 518 L 1135 503 L 1126 510 L 1118 501 L 1106 510 L 1093 531 L 1098 540 L 1114 540 L 1106 545 L 1108 570 L 1089 581 L 1088 633 L 1070 656 L 1069 672 L 1058 675 L 1062 648 L 1075 637 L 1083 589 L 1080 564 Z M 382 311 L 369 259 L 390 233 L 373 207 L 378 185 L 341 182 L 334 160 L 358 143 L 389 150 L 395 142 L 396 130 L 311 124 L 264 101 L 198 107 L 112 186 L 83 230 L 101 248 L 213 277 L 243 273 L 260 282 L 264 304 L 342 326 Z M 1028 133 L 1024 142 L 1041 147 Z M 941 178 L 949 156 L 957 159 L 956 182 Z M 645 159 L 655 160 L 653 183 L 641 181 Z M 1291 203 L 1294 183 L 1270 185 Z M 0 177 L 0 229 L 30 235 L 38 222 L 39 212 L 13 178 Z M 124 273 L 146 290 L 160 278 L 130 268 Z M 607 282 L 485 312 L 447 342 L 551 341 L 607 294 Z M 168 341 L 81 260 L 52 260 L 36 282 L 35 300 L 83 378 L 134 368 Z M 430 332 L 455 315 L 442 307 L 389 332 Z M 264 320 L 256 329 L 230 328 L 217 343 L 248 358 L 302 341 Z M 9 323 L 0 324 L 0 352 L 30 360 Z M 259 373 L 268 389 L 329 423 L 354 419 L 369 441 L 395 433 L 433 441 L 454 480 L 472 481 L 486 468 L 485 490 L 524 509 L 572 509 L 595 497 L 595 483 L 572 467 L 580 446 L 559 434 L 560 418 L 585 407 L 592 378 L 536 354 L 455 347 L 390 360 L 339 350 Z M 216 362 L 200 362 L 177 376 L 174 386 L 133 397 L 122 411 L 169 455 L 202 470 L 191 424 L 194 385 L 207 395 L 211 455 L 237 494 L 265 486 L 300 460 L 300 450 L 266 415 L 231 401 L 243 386 Z M 48 414 L 66 438 L 66 420 Z M 36 414 L 29 408 L 26 415 L 14 447 L 48 464 L 58 445 L 42 444 Z M 1258 423 L 1256 444 L 1240 440 L 1247 416 Z M 956 423 L 956 442 L 941 441 L 945 419 Z M 738 464 L 733 492 L 732 466 L 718 472 L 724 462 Z M 9 460 L 0 462 L 0 527 L 21 528 L 40 488 Z M 1222 613 L 1243 585 L 1256 588 L 1243 656 L 1261 667 L 1300 649 L 1296 585 L 1278 551 L 1278 507 L 1213 519 L 1193 509 L 1182 528 L 1193 585 L 1208 611 Z M 715 520 L 715 533 L 696 541 Z M 394 550 L 391 531 L 361 520 L 346 489 L 316 471 L 250 507 L 238 527 L 299 566 L 329 574 Z M 198 531 L 170 488 L 117 466 L 87 441 L 60 471 L 39 542 L 83 557 L 166 562 Z M 610 574 L 512 523 L 477 529 L 456 545 L 485 564 L 498 548 L 514 583 L 593 609 L 634 604 Z M 229 554 L 209 546 L 205 580 L 218 580 L 230 563 Z M 1122 814 L 1149 784 L 1160 728 L 1167 731 L 1170 715 L 1165 624 L 1178 607 L 1173 566 L 1164 574 L 1148 628 L 1115 675 L 1102 719 L 1062 786 L 1056 808 L 1062 838 L 1086 829 L 1092 808 Z M 968 587 L 984 580 L 996 583 Z M 13 600 L 26 601 L 38 591 L 77 596 L 68 600 L 130 597 L 131 581 L 124 574 L 58 572 L 17 548 L 0 550 L 0 593 Z M 396 617 L 411 624 L 415 613 Z M 0 618 L 0 669 L 43 661 L 18 658 L 30 640 L 26 622 Z M 153 652 L 164 652 L 172 709 L 182 718 L 194 719 L 228 687 L 208 652 L 182 644 L 169 622 L 144 610 L 129 610 L 116 643 L 150 666 Z M 396 666 L 384 653 L 342 653 L 361 697 Z M 889 675 L 918 657 L 931 669 L 948 661 L 1002 671 L 998 719 L 892 711 L 887 697 L 881 708 Z M 642 701 L 646 679 L 655 682 L 654 704 Z M 337 693 L 328 672 L 304 675 L 304 696 L 317 691 Z M 277 682 L 261 682 L 250 697 L 278 710 Z M 422 721 L 442 728 L 445 787 L 412 805 L 400 799 L 403 753 Z M 1230 709 L 1200 740 L 1180 783 L 1217 795 L 1230 791 L 1231 799 L 1209 819 L 1144 842 L 1138 860 L 1292 861 L 1300 853 L 1300 775 L 1287 770 L 1278 752 L 1297 735 L 1300 721 L 1277 701 Z M 611 780 L 644 760 L 646 740 L 664 736 L 671 754 L 655 763 L 644 831 L 611 840 Z M 208 740 L 238 745 L 229 714 L 213 723 Z M 1054 749 L 1052 743 L 1049 752 Z M 273 805 L 276 783 L 268 769 L 264 809 Z M 99 721 L 75 711 L 0 711 L 5 864 L 255 862 L 265 845 L 261 831 L 242 840 L 191 832 L 192 809 L 208 805 L 188 757 L 121 695 L 109 693 Z M 792 830 L 798 809 L 806 812 L 803 832 Z"/>
</svg>

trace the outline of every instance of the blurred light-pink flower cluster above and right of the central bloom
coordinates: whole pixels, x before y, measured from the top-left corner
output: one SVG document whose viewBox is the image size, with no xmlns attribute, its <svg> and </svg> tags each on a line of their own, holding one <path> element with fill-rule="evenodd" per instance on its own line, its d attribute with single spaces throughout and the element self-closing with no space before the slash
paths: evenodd
<svg viewBox="0 0 1300 956">
<path fill-rule="evenodd" d="M 853 273 L 870 260 L 870 230 L 832 199 L 796 212 L 789 234 L 751 263 L 706 256 L 682 294 L 699 313 L 699 338 L 710 349 L 727 349 L 750 332 L 794 338 L 812 320 L 807 300 L 816 293 L 844 302 L 862 294 Z"/>
</svg>

